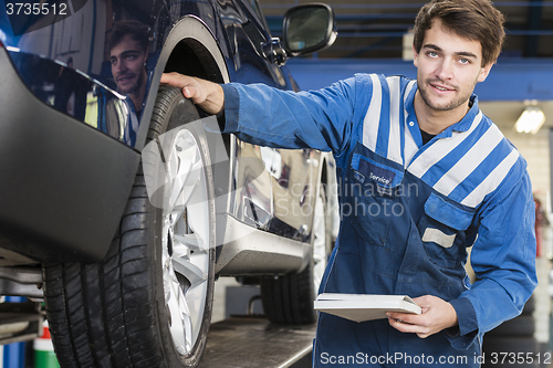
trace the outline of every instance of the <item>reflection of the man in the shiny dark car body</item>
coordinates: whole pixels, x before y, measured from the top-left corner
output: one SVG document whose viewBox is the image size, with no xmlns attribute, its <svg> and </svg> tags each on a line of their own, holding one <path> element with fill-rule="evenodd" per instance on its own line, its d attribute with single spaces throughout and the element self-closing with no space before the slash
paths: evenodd
<svg viewBox="0 0 553 368">
<path fill-rule="evenodd" d="M 108 125 L 112 135 L 123 130 L 123 140 L 134 146 L 138 130 L 144 95 L 147 87 L 146 61 L 149 51 L 148 28 L 134 20 L 116 22 L 109 36 L 109 63 L 117 92 L 127 96 L 129 117 L 121 129 L 118 124 Z M 116 119 L 112 119 L 116 120 Z"/>
</svg>

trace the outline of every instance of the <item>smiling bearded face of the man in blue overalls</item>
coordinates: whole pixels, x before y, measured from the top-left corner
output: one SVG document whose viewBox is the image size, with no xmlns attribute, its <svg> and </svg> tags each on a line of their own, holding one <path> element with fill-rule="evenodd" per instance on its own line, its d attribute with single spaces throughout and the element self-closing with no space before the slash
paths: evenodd
<svg viewBox="0 0 553 368">
<path fill-rule="evenodd" d="M 439 19 L 426 31 L 420 53 L 415 51 L 418 92 L 430 109 L 467 112 L 478 82 L 483 82 L 491 64 L 482 67 L 482 46 L 449 32 Z"/>
</svg>

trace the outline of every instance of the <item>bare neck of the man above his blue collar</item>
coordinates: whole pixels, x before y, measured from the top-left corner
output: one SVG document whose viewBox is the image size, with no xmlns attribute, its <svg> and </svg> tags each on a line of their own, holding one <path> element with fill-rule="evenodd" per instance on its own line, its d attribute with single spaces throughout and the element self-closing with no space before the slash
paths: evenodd
<svg viewBox="0 0 553 368">
<path fill-rule="evenodd" d="M 451 125 L 460 122 L 469 111 L 469 101 L 453 109 L 440 111 L 428 106 L 420 92 L 415 94 L 415 114 L 420 129 L 431 135 L 438 135 Z"/>
</svg>

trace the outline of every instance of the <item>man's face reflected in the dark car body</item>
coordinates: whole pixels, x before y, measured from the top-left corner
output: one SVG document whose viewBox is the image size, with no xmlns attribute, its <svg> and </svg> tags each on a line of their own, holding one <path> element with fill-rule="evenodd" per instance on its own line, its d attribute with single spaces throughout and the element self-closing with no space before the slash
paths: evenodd
<svg viewBox="0 0 553 368">
<path fill-rule="evenodd" d="M 112 74 L 117 84 L 117 91 L 123 94 L 133 94 L 146 81 L 145 63 L 147 52 L 140 48 L 138 41 L 127 34 L 112 49 L 109 62 Z"/>
</svg>

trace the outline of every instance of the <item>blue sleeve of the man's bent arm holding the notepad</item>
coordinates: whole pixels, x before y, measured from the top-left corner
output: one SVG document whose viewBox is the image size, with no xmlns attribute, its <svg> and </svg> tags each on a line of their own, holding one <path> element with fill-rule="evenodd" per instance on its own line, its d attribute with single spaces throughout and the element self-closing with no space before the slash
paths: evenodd
<svg viewBox="0 0 553 368">
<path fill-rule="evenodd" d="M 478 281 L 460 296 L 474 308 L 480 333 L 518 316 L 538 284 L 532 188 L 524 159 L 511 164 L 513 155 L 493 170 L 511 168 L 501 182 L 501 175 L 490 177 L 489 188 L 497 188 L 479 209 L 470 255 Z"/>
</svg>

